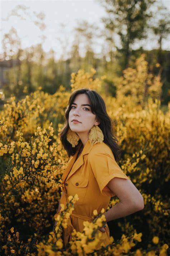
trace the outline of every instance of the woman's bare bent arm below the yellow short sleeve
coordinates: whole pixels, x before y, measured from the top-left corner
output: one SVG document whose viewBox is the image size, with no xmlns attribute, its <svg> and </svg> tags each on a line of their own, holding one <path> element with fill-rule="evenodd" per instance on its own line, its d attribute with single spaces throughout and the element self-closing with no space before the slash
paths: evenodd
<svg viewBox="0 0 170 256">
<path fill-rule="evenodd" d="M 120 199 L 115 206 L 104 213 L 106 221 L 115 220 L 144 208 L 143 197 L 131 180 L 115 177 L 107 187 Z"/>
</svg>

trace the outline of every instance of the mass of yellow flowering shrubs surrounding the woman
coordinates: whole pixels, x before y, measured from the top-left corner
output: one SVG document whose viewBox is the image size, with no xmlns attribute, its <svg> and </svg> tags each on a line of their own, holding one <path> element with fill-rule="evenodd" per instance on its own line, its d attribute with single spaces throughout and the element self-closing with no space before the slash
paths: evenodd
<svg viewBox="0 0 170 256">
<path fill-rule="evenodd" d="M 118 164 L 141 192 L 144 209 L 110 221 L 110 244 L 99 250 L 105 217 L 94 209 L 94 219 L 84 221 L 82 233 L 74 229 L 63 246 L 63 230 L 79 200 L 70 196 L 54 218 L 68 161 L 59 133 L 70 92 L 60 86 L 49 95 L 39 87 L 21 100 L 11 96 L 0 111 L 0 255 L 168 255 L 170 104 L 163 113 L 159 77 L 148 74 L 142 55 L 117 81 L 114 98 L 102 94 L 94 74 L 72 73 L 71 91 L 89 87 L 103 96 L 122 147 Z M 118 202 L 112 197 L 107 210 Z"/>
</svg>

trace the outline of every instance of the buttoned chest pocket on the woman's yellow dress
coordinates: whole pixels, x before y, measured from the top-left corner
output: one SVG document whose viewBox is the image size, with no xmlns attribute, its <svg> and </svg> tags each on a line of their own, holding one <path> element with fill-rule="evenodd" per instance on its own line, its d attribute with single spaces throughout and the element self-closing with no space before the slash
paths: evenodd
<svg viewBox="0 0 170 256">
<path fill-rule="evenodd" d="M 88 189 L 88 183 L 89 179 L 84 176 L 75 174 L 71 177 L 71 195 L 78 195 L 79 200 L 77 203 L 83 203 L 86 191 Z"/>
</svg>

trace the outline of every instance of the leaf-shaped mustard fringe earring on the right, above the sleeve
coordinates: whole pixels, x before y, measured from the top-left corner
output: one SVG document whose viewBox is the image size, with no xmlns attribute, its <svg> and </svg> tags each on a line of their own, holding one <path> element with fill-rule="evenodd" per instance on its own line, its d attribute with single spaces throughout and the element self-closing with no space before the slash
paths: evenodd
<svg viewBox="0 0 170 256">
<path fill-rule="evenodd" d="M 98 125 L 96 125 L 96 126 L 94 125 L 90 129 L 89 140 L 90 140 L 91 145 L 103 142 L 104 135 Z"/>
</svg>

